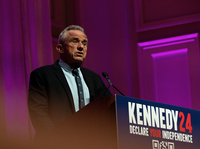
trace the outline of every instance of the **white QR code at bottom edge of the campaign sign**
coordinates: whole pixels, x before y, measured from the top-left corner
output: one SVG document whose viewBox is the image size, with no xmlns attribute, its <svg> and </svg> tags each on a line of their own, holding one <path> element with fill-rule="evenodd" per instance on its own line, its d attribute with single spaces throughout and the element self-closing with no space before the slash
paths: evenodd
<svg viewBox="0 0 200 149">
<path fill-rule="evenodd" d="M 152 148 L 153 149 L 175 149 L 173 142 L 152 140 Z"/>
</svg>

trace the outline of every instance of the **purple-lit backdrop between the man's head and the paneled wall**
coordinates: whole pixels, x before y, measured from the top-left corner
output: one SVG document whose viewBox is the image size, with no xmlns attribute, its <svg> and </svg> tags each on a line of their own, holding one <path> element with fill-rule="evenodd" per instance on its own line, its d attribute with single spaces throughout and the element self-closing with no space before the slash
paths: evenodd
<svg viewBox="0 0 200 149">
<path fill-rule="evenodd" d="M 122 93 L 139 97 L 134 1 L 76 2 L 80 12 L 78 20 L 89 39 L 84 66 L 100 76 L 103 71 L 108 72 L 112 83 Z M 105 84 L 108 83 L 105 81 Z M 113 94 L 120 94 L 113 87 L 110 89 Z"/>
</svg>

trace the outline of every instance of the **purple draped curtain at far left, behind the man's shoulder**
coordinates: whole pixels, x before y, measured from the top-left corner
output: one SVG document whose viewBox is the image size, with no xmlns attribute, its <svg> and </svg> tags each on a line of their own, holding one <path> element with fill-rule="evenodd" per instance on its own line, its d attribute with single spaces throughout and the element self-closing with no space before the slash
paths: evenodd
<svg viewBox="0 0 200 149">
<path fill-rule="evenodd" d="M 0 20 L 0 136 L 29 140 L 29 75 L 53 62 L 50 2 L 1 0 Z"/>
</svg>

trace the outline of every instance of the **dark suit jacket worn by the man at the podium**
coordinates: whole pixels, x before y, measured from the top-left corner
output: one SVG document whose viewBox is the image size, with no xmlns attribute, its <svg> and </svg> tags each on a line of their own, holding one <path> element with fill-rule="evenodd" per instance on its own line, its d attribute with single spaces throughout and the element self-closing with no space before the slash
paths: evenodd
<svg viewBox="0 0 200 149">
<path fill-rule="evenodd" d="M 90 100 L 98 98 L 106 89 L 102 79 L 89 69 L 81 67 L 81 72 L 89 88 Z M 108 95 L 111 95 L 109 90 L 102 96 Z M 36 135 L 47 132 L 75 113 L 72 93 L 58 61 L 31 73 L 28 107 Z"/>
</svg>

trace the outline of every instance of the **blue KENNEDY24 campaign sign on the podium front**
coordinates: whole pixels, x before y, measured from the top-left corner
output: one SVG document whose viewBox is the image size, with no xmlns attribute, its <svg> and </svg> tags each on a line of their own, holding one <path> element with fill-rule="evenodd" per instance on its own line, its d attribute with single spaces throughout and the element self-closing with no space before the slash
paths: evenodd
<svg viewBox="0 0 200 149">
<path fill-rule="evenodd" d="M 118 149 L 199 149 L 200 111 L 116 95 Z"/>
</svg>

